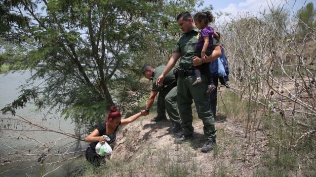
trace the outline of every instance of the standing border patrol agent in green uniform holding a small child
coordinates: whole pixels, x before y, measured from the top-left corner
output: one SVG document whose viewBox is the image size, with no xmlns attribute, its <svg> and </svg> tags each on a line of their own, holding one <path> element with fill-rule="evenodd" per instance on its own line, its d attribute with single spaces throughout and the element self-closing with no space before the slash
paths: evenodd
<svg viewBox="0 0 316 177">
<path fill-rule="evenodd" d="M 202 152 L 208 152 L 216 145 L 216 129 L 214 123 L 214 115 L 210 108 L 209 95 L 205 94 L 207 88 L 206 77 L 202 75 L 202 83 L 198 87 L 192 87 L 192 83 L 196 80 L 193 72 L 194 66 L 202 64 L 202 60 L 196 57 L 196 43 L 199 39 L 199 30 L 195 27 L 192 16 L 188 12 L 184 12 L 177 17 L 178 24 L 184 34 L 180 37 L 175 46 L 174 52 L 167 64 L 162 75 L 157 79 L 160 85 L 165 79 L 165 75 L 175 66 L 180 58 L 178 69 L 178 108 L 181 116 L 181 126 L 183 134 L 175 139 L 176 143 L 181 143 L 192 138 L 194 128 L 192 126 L 192 99 L 194 100 L 199 118 L 203 121 L 204 135 L 207 140 L 202 147 Z M 212 62 L 221 56 L 220 47 L 216 46 L 213 53 L 205 60 Z"/>
</svg>

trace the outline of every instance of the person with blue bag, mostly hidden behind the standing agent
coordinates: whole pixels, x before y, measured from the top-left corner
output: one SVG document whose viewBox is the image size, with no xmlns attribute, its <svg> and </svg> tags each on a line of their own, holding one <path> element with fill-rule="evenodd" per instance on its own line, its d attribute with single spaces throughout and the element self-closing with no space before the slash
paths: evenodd
<svg viewBox="0 0 316 177">
<path fill-rule="evenodd" d="M 220 38 L 220 33 L 216 32 Z M 214 117 L 216 117 L 217 106 L 217 88 L 218 80 L 222 85 L 229 89 L 227 81 L 229 81 L 229 68 L 227 58 L 224 52 L 224 48 L 220 45 L 222 55 L 210 63 L 210 71 L 213 76 L 213 84 L 216 86 L 216 90 L 210 93 L 210 104 Z"/>
</svg>

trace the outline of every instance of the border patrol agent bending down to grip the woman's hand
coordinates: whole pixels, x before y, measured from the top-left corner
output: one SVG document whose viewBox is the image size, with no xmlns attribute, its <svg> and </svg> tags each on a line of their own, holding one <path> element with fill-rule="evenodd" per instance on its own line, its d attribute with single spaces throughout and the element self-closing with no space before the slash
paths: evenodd
<svg viewBox="0 0 316 177">
<path fill-rule="evenodd" d="M 148 98 L 146 108 L 143 111 L 149 113 L 149 109 L 155 99 L 155 96 L 159 92 L 157 100 L 157 116 L 151 121 L 158 122 L 161 120 L 167 120 L 166 110 L 169 115 L 170 121 L 173 124 L 171 132 L 177 133 L 182 131 L 181 119 L 178 112 L 177 105 L 177 82 L 173 70 L 170 71 L 163 82 L 162 86 L 156 84 L 157 78 L 165 70 L 166 66 L 159 66 L 153 69 L 150 65 L 144 65 L 142 68 L 142 74 L 148 80 L 152 80 L 152 89 Z"/>
</svg>

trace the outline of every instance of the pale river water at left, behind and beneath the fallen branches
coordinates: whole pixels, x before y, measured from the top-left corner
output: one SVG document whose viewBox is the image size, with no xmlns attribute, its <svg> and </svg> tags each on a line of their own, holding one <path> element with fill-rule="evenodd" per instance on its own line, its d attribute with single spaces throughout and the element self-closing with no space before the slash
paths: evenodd
<svg viewBox="0 0 316 177">
<path fill-rule="evenodd" d="M 30 71 L 0 74 L 0 109 L 18 98 L 21 90 L 19 86 L 25 84 L 30 76 Z M 38 85 L 41 82 L 43 81 L 36 81 L 33 85 Z M 70 120 L 64 120 L 54 110 L 47 114 L 47 110 L 38 112 L 35 109 L 34 104 L 30 102 L 23 109 L 17 109 L 16 114 L 48 129 L 74 134 L 74 125 Z M 0 118 L 0 159 L 2 160 L 0 162 L 0 176 L 43 176 L 45 174 L 45 176 L 66 176 L 80 161 L 84 160 L 83 157 L 80 157 L 75 160 L 38 166 L 41 163 L 38 163 L 37 160 L 42 154 L 47 156 L 43 163 L 73 157 L 74 155 L 61 157 L 52 156 L 52 154 L 59 154 L 59 151 L 74 151 L 75 140 L 53 132 L 29 131 L 34 130 L 34 127 L 23 125 L 18 116 L 0 114 Z M 12 121 L 7 118 L 18 120 Z M 59 141 L 56 141 L 57 139 Z M 80 150 L 85 149 L 87 144 L 81 144 L 82 148 Z M 18 162 L 8 163 L 12 161 Z"/>
</svg>

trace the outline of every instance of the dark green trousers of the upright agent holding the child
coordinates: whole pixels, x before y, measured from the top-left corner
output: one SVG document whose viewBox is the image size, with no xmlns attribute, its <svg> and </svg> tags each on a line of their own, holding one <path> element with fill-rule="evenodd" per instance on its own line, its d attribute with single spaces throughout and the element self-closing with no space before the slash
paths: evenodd
<svg viewBox="0 0 316 177">
<path fill-rule="evenodd" d="M 183 133 L 187 136 L 193 134 L 194 128 L 192 126 L 192 99 L 198 117 L 203 121 L 203 131 L 207 139 L 215 142 L 216 129 L 214 124 L 214 116 L 211 111 L 209 95 L 205 94 L 207 89 L 207 79 L 205 75 L 201 76 L 202 83 L 197 87 L 192 87 L 193 82 L 196 80 L 195 76 L 179 77 L 177 82 L 178 87 L 178 108 L 181 117 L 181 126 Z"/>
</svg>

